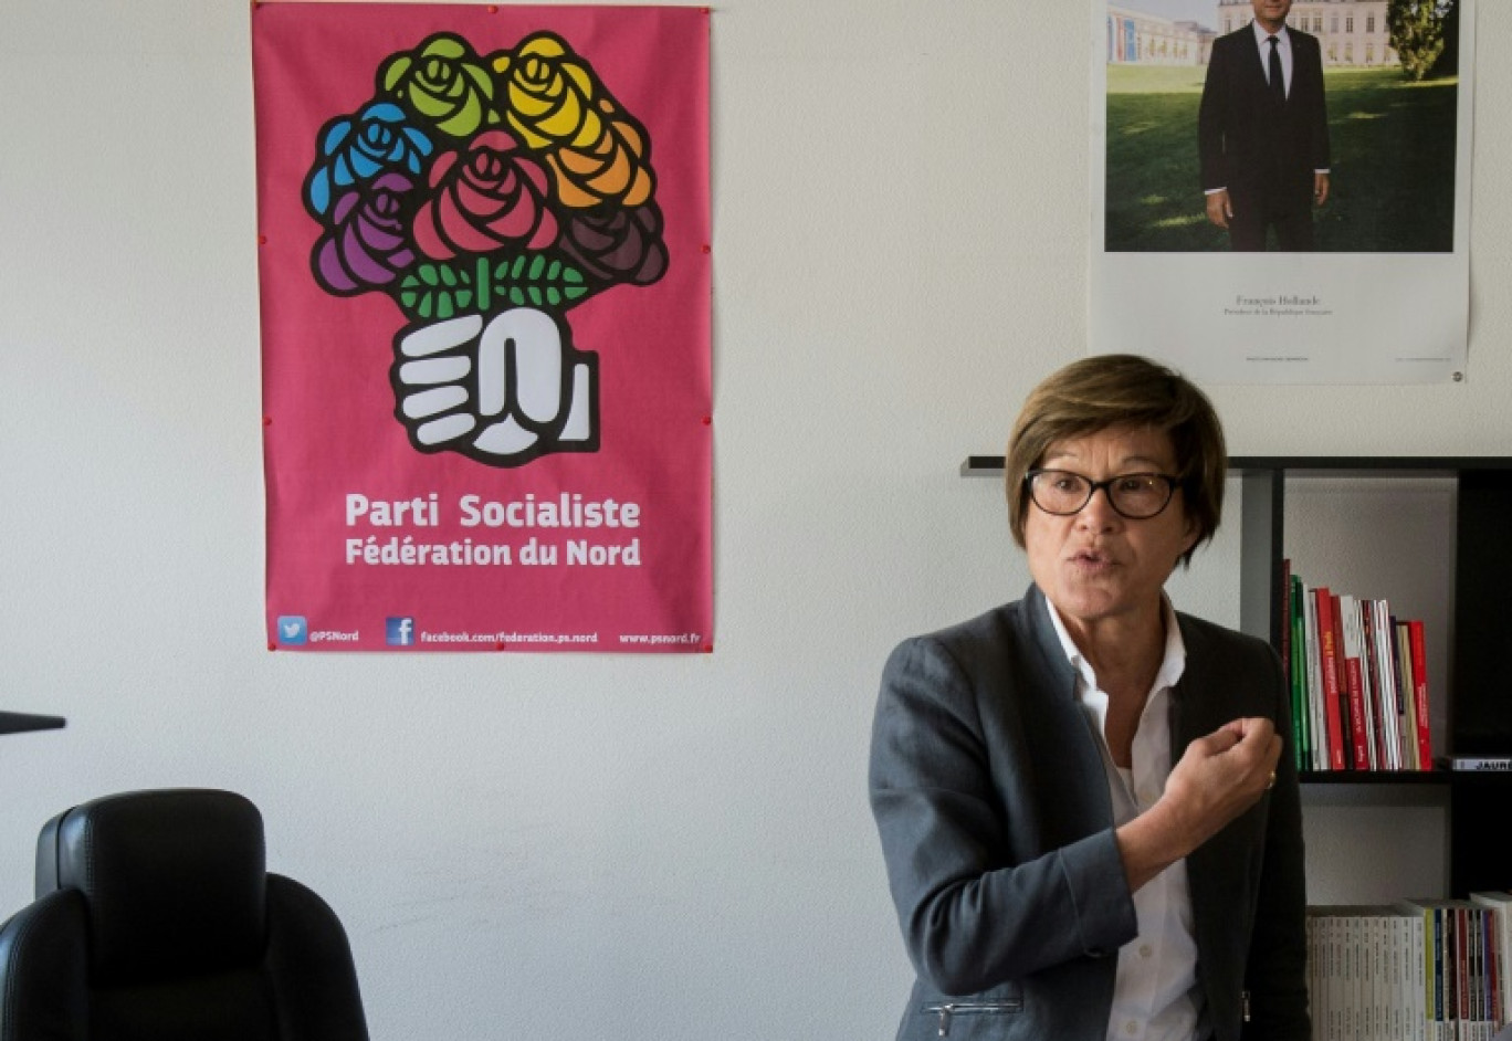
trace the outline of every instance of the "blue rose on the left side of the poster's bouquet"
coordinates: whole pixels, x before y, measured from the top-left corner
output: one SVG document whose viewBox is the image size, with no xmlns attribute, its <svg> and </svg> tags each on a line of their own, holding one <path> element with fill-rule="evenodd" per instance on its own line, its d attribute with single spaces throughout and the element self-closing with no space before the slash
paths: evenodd
<svg viewBox="0 0 1512 1041">
<path fill-rule="evenodd" d="M 321 157 L 304 187 L 310 212 L 324 218 L 331 199 L 345 189 L 370 181 L 384 171 L 419 177 L 435 145 L 408 125 L 404 109 L 373 101 L 357 116 L 333 119 L 321 133 Z"/>
</svg>

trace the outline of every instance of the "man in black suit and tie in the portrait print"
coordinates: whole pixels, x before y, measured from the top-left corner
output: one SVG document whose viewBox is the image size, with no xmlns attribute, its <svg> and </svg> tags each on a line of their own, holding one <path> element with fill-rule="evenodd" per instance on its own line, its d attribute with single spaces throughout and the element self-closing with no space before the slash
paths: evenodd
<svg viewBox="0 0 1512 1041">
<path fill-rule="evenodd" d="M 1328 110 L 1317 36 L 1287 27 L 1291 0 L 1250 0 L 1255 20 L 1213 41 L 1198 113 L 1208 221 L 1234 249 L 1312 249 L 1328 201 Z"/>
</svg>

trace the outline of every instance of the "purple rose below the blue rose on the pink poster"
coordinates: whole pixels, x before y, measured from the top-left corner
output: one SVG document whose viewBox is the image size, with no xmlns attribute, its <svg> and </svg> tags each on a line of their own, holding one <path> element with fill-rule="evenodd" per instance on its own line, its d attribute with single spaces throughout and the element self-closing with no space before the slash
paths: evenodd
<svg viewBox="0 0 1512 1041">
<path fill-rule="evenodd" d="M 330 230 L 314 245 L 314 280 L 339 296 L 383 289 L 414 263 L 405 234 L 414 183 L 389 172 L 337 196 Z"/>
</svg>

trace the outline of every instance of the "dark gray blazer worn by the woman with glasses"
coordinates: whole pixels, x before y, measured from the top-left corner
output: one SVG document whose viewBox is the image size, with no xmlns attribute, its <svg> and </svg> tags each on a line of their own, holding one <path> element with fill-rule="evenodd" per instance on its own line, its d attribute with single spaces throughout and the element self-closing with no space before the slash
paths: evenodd
<svg viewBox="0 0 1512 1041">
<path fill-rule="evenodd" d="M 1288 684 L 1259 639 L 1178 613 L 1172 754 L 1237 716 L 1287 742 L 1252 810 L 1187 858 L 1217 1041 L 1308 1041 Z M 1096 737 L 1043 594 L 904 641 L 872 724 L 871 807 L 918 979 L 900 1041 L 1104 1041 L 1136 937 Z"/>
</svg>

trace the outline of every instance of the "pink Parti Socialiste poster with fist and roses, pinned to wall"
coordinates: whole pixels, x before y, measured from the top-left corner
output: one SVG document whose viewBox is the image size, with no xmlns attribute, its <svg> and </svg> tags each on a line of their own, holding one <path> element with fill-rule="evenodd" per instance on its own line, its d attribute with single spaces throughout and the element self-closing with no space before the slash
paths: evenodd
<svg viewBox="0 0 1512 1041">
<path fill-rule="evenodd" d="M 708 9 L 251 18 L 269 648 L 712 650 Z"/>
</svg>

